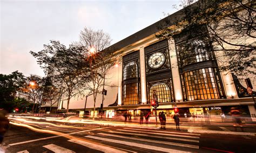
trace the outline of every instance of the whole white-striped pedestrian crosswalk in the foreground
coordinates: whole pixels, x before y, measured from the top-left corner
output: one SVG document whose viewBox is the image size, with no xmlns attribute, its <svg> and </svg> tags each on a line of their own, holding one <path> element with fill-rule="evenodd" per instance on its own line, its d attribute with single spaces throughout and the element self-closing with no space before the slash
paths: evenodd
<svg viewBox="0 0 256 153">
<path fill-rule="evenodd" d="M 84 138 L 70 139 L 59 146 L 50 143 L 42 148 L 52 152 L 198 152 L 200 134 L 190 134 L 181 131 L 165 131 L 154 129 L 121 128 L 99 131 Z M 79 145 L 83 150 L 77 151 Z M 74 151 L 76 150 L 76 151 Z M 139 151 L 138 151 L 139 150 Z M 29 148 L 19 152 L 33 152 Z"/>
</svg>

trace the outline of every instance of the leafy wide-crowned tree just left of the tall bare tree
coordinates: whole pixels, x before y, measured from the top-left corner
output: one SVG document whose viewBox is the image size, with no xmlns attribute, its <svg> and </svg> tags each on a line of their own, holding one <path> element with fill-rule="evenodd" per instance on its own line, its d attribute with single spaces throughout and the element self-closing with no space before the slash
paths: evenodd
<svg viewBox="0 0 256 153">
<path fill-rule="evenodd" d="M 38 53 L 30 51 L 30 53 L 37 58 L 45 74 L 62 88 L 64 99 L 67 100 L 68 113 L 70 99 L 83 94 L 85 83 L 90 81 L 83 48 L 76 45 L 66 48 L 59 41 L 51 40 L 50 44 L 44 45 L 44 50 Z"/>
</svg>

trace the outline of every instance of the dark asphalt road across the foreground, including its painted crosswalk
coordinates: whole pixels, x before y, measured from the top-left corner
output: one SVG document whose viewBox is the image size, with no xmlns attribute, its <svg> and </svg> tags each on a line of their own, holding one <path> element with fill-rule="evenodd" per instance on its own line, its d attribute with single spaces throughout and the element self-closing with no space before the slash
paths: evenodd
<svg viewBox="0 0 256 153">
<path fill-rule="evenodd" d="M 31 123 L 28 123 L 31 126 Z M 6 152 L 255 152 L 255 136 L 191 134 L 173 129 L 99 127 L 97 124 L 12 125 Z M 50 134 L 49 130 L 56 131 Z M 45 130 L 45 131 L 44 131 Z"/>
</svg>

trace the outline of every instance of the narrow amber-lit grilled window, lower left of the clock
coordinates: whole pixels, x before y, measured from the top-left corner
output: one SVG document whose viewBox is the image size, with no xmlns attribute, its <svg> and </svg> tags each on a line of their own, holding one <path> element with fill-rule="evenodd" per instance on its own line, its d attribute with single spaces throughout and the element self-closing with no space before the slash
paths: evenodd
<svg viewBox="0 0 256 153">
<path fill-rule="evenodd" d="M 140 99 L 140 83 L 134 82 L 123 86 L 123 105 L 137 105 Z"/>
</svg>

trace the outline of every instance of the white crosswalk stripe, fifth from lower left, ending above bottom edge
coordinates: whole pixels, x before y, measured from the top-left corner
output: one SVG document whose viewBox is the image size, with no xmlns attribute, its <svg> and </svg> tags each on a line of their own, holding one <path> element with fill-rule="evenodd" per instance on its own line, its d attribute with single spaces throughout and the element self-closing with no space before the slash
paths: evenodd
<svg viewBox="0 0 256 153">
<path fill-rule="evenodd" d="M 134 137 L 120 136 L 120 135 L 113 135 L 113 134 L 105 134 L 105 133 L 99 133 L 99 135 L 112 136 L 112 137 L 120 137 L 120 138 L 127 138 L 127 139 L 130 139 L 130 140 L 139 140 L 139 141 L 154 142 L 154 143 L 167 144 L 167 145 L 176 145 L 176 146 L 179 146 L 179 147 L 187 147 L 187 148 L 199 149 L 198 145 L 192 145 L 192 144 L 184 144 L 184 143 L 176 143 L 176 142 L 166 142 L 166 141 L 156 141 L 156 140 L 150 140 L 150 139 L 146 139 L 146 138 L 134 138 Z"/>
</svg>

